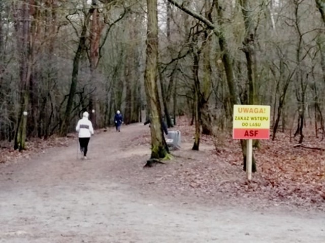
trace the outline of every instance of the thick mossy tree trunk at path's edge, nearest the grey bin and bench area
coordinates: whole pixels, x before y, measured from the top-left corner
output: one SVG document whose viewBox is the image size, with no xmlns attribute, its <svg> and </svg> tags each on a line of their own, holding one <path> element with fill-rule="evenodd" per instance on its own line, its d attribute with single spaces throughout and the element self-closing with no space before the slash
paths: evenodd
<svg viewBox="0 0 325 243">
<path fill-rule="evenodd" d="M 158 15 L 157 0 L 147 0 L 147 49 L 145 91 L 151 118 L 151 158 L 168 157 L 169 150 L 161 130 L 161 107 L 157 88 Z"/>
</svg>

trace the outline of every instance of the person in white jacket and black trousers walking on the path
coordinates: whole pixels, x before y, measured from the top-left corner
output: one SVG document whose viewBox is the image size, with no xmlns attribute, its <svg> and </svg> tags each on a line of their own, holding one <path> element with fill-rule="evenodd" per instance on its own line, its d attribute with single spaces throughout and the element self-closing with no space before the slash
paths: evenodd
<svg viewBox="0 0 325 243">
<path fill-rule="evenodd" d="M 76 131 L 78 132 L 80 150 L 83 153 L 83 158 L 87 159 L 88 143 L 91 135 L 93 135 L 93 127 L 88 119 L 89 113 L 83 112 L 82 118 L 78 121 Z"/>
</svg>

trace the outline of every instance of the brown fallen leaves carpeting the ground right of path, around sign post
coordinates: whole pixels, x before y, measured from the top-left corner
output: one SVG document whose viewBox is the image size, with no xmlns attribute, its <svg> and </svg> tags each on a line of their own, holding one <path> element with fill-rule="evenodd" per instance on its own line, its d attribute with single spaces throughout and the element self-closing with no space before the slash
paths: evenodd
<svg viewBox="0 0 325 243">
<path fill-rule="evenodd" d="M 182 142 L 193 142 L 194 126 L 186 119 L 178 119 L 175 129 L 181 131 Z M 145 142 L 145 136 L 137 138 Z M 177 193 L 216 200 L 251 200 L 256 205 L 290 205 L 300 208 L 317 208 L 325 211 L 325 154 L 312 134 L 305 136 L 306 146 L 293 147 L 285 134 L 278 134 L 276 141 L 263 140 L 261 148 L 254 149 L 257 173 L 248 182 L 242 170 L 240 142 L 231 134 L 223 137 L 222 146 L 210 151 L 173 151 L 176 163 L 153 169 L 152 174 L 137 174 L 138 182 L 150 176 L 159 176 L 162 183 L 155 185 L 168 194 Z M 214 145 L 212 136 L 202 136 L 201 145 Z M 186 157 L 192 159 L 186 159 Z M 142 178 L 143 177 L 143 178 Z M 141 178 L 141 179 L 139 179 Z M 139 181 L 140 180 L 140 181 Z"/>
</svg>

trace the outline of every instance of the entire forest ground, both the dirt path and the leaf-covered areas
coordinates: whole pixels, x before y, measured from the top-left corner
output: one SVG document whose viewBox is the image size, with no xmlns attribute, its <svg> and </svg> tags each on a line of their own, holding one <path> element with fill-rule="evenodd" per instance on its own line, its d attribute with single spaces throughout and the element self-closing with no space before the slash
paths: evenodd
<svg viewBox="0 0 325 243">
<path fill-rule="evenodd" d="M 203 136 L 192 151 L 193 128 L 174 129 L 181 150 L 152 168 L 143 124 L 96 131 L 88 160 L 74 135 L 0 148 L 0 242 L 324 242 L 324 151 L 262 141 L 248 183 L 238 141 Z"/>
</svg>

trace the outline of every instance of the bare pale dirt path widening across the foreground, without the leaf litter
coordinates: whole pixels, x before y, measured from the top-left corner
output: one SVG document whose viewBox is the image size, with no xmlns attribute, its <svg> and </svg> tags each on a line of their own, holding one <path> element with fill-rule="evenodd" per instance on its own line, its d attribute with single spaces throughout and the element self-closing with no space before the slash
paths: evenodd
<svg viewBox="0 0 325 243">
<path fill-rule="evenodd" d="M 85 161 L 75 143 L 0 166 L 0 242 L 325 242 L 323 213 L 252 213 L 140 193 L 123 168 L 140 170 L 135 158 L 150 151 L 136 138 L 147 132 L 137 124 L 96 135 Z"/>
</svg>

